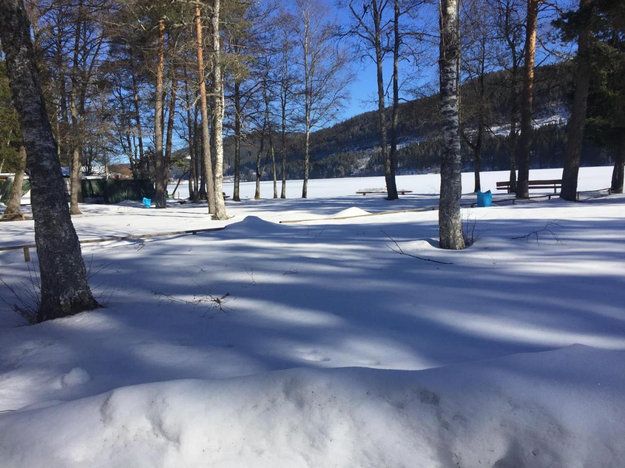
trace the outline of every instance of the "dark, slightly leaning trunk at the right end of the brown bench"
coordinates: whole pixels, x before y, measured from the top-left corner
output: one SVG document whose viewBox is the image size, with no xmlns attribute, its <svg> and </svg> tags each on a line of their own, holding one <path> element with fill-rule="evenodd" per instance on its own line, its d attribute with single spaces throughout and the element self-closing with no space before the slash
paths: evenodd
<svg viewBox="0 0 625 468">
<path fill-rule="evenodd" d="M 581 0 L 579 9 L 584 9 L 592 0 Z M 589 14 L 588 17 L 590 17 Z M 577 174 L 579 160 L 582 155 L 582 141 L 584 140 L 584 126 L 586 125 L 586 107 L 588 104 L 588 89 L 591 77 L 591 24 L 586 24 L 579 31 L 577 40 L 577 72 L 575 77 L 575 92 L 573 107 L 566 139 L 566 153 L 564 155 L 564 169 L 562 170 L 562 190 L 560 197 L 569 202 L 577 200 Z"/>
</svg>

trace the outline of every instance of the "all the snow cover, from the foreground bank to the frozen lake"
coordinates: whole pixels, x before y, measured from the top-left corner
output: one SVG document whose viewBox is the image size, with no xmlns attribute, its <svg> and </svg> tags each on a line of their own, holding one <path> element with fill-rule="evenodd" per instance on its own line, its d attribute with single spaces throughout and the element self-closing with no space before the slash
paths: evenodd
<svg viewBox="0 0 625 468">
<path fill-rule="evenodd" d="M 263 183 L 227 222 L 83 205 L 81 238 L 226 229 L 83 245 L 105 308 L 0 312 L 0 467 L 624 466 L 625 197 L 463 209 L 464 251 L 437 248 L 435 211 L 332 219 L 436 205 L 438 177 L 398 177 L 397 202 L 354 195 L 382 178 Z M 31 255 L 0 251 L 2 280 L 28 284 Z"/>
</svg>

